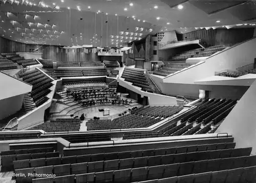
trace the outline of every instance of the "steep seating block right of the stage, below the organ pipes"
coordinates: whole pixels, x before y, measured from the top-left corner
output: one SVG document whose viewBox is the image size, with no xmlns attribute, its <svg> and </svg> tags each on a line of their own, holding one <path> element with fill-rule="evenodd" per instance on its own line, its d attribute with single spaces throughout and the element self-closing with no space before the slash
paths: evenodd
<svg viewBox="0 0 256 183">
<path fill-rule="evenodd" d="M 125 67 L 122 78 L 125 81 L 133 83 L 134 86 L 141 87 L 143 91 L 154 92 L 152 87 L 145 77 L 144 70 L 138 70 L 136 68 Z"/>
</svg>

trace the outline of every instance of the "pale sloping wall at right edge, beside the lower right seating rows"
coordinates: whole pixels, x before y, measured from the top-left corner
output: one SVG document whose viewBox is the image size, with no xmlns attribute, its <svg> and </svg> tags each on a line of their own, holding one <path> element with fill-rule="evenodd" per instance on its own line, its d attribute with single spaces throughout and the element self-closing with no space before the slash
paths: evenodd
<svg viewBox="0 0 256 183">
<path fill-rule="evenodd" d="M 256 155 L 256 81 L 252 83 L 238 104 L 231 110 L 216 133 L 231 133 L 236 147 L 252 147 Z"/>
</svg>

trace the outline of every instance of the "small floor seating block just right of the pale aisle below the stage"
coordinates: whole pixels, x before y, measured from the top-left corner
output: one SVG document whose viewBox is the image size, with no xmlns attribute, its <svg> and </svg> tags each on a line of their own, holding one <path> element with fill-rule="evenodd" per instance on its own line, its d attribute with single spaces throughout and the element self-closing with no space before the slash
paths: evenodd
<svg viewBox="0 0 256 183">
<path fill-rule="evenodd" d="M 89 120 L 86 123 L 87 130 L 107 130 L 125 128 L 122 124 L 116 124 L 111 120 Z"/>
</svg>

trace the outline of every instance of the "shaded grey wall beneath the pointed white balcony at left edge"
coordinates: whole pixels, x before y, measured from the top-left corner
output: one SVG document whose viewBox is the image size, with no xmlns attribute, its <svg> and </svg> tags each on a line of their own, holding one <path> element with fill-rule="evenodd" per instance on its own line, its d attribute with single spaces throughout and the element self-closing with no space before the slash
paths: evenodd
<svg viewBox="0 0 256 183">
<path fill-rule="evenodd" d="M 23 97 L 24 94 L 0 100 L 0 120 L 19 111 L 22 108 Z"/>
</svg>

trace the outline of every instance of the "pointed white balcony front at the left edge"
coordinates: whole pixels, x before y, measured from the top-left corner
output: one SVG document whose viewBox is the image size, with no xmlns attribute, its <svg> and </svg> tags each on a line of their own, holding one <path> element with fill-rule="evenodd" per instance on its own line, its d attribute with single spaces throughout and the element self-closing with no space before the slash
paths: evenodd
<svg viewBox="0 0 256 183">
<path fill-rule="evenodd" d="M 29 93 L 32 85 L 0 72 L 0 100 Z"/>
</svg>

